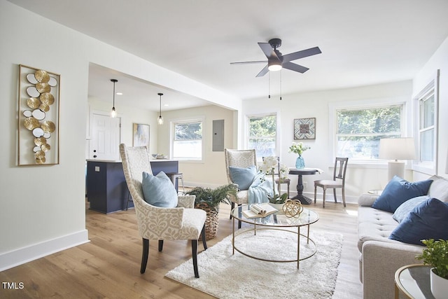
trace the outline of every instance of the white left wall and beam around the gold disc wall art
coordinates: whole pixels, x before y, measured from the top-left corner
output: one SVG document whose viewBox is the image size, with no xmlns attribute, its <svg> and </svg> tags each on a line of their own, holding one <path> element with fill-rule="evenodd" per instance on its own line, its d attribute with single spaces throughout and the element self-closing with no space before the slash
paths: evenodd
<svg viewBox="0 0 448 299">
<path fill-rule="evenodd" d="M 232 109 L 241 106 L 235 97 L 5 0 L 0 0 L 0 36 L 0 270 L 87 242 L 85 120 L 90 62 Z M 61 75 L 59 165 L 17 166 L 18 64 Z M 125 125 L 132 121 L 128 118 Z M 129 138 L 125 135 L 123 141 L 132 143 Z"/>
</svg>

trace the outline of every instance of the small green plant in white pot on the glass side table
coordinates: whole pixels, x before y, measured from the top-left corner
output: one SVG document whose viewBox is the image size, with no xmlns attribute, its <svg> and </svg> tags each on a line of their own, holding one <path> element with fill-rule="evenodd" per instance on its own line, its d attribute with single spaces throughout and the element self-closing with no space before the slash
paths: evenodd
<svg viewBox="0 0 448 299">
<path fill-rule="evenodd" d="M 436 299 L 446 298 L 448 294 L 448 240 L 423 239 L 426 248 L 416 256 L 424 265 L 432 266 L 430 270 L 431 292 Z"/>
</svg>

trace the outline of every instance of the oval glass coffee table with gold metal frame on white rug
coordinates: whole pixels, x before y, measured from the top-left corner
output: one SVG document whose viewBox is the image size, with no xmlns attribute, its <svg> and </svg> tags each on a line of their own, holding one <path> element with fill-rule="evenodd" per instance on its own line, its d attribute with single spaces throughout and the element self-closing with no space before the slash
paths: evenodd
<svg viewBox="0 0 448 299">
<path fill-rule="evenodd" d="M 242 204 L 239 207 L 235 207 L 235 209 L 232 209 L 231 215 L 233 218 L 233 227 L 232 227 L 232 254 L 235 254 L 235 250 L 239 253 L 243 254 L 244 256 L 248 256 L 249 258 L 255 258 L 257 260 L 265 260 L 269 262 L 275 262 L 275 263 L 290 263 L 290 262 L 296 262 L 297 263 L 297 269 L 299 268 L 299 262 L 300 260 L 305 260 L 307 258 L 311 258 L 311 256 L 314 256 L 314 254 L 317 251 L 316 243 L 309 237 L 309 225 L 315 223 L 319 220 L 319 215 L 311 210 L 304 208 L 302 213 L 300 213 L 299 216 L 294 217 L 286 217 L 286 215 L 283 213 L 283 211 L 278 211 L 275 214 L 269 215 L 267 217 L 260 217 L 260 218 L 246 218 L 244 214 L 241 213 L 241 211 L 248 210 L 249 205 L 248 204 Z M 243 232 L 239 232 L 239 230 L 235 231 L 235 221 L 241 221 L 244 223 L 248 223 L 250 225 L 253 225 L 253 228 L 249 230 L 244 230 Z M 307 226 L 307 235 L 302 235 L 300 233 L 300 228 L 302 226 Z M 293 235 L 297 236 L 297 258 L 292 260 L 274 260 L 274 259 L 267 259 L 267 258 L 260 258 L 257 256 L 254 256 L 250 253 L 244 252 L 241 249 L 239 249 L 235 245 L 235 239 L 238 239 L 239 237 L 244 237 L 245 235 L 248 235 L 248 233 L 253 232 L 251 235 L 257 235 L 258 230 L 282 230 L 286 232 L 290 232 Z M 300 257 L 300 237 L 304 237 L 307 240 L 307 244 L 312 244 L 314 246 L 314 249 L 311 250 L 309 253 L 307 253 L 306 256 Z"/>
</svg>

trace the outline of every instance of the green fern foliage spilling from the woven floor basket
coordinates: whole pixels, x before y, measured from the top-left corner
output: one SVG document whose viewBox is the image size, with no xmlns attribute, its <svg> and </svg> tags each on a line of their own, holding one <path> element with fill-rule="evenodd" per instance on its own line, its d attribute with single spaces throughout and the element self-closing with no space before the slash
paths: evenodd
<svg viewBox="0 0 448 299">
<path fill-rule="evenodd" d="M 237 186 L 234 184 L 220 186 L 218 188 L 195 187 L 188 191 L 186 195 L 196 195 L 195 205 L 207 205 L 208 207 L 218 207 L 221 202 L 229 204 L 230 196 L 237 196 Z"/>
</svg>

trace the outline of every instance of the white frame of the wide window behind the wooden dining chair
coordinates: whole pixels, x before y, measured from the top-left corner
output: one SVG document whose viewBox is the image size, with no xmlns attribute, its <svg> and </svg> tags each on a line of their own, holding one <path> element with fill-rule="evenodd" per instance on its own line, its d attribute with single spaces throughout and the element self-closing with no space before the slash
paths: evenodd
<svg viewBox="0 0 448 299">
<path fill-rule="evenodd" d="M 335 102 L 329 104 L 330 120 L 329 120 L 329 138 L 330 138 L 330 157 L 331 163 L 337 156 L 337 129 L 338 119 L 337 112 L 341 110 L 363 110 L 363 109 L 378 109 L 391 106 L 401 106 L 401 120 L 400 120 L 400 132 L 402 137 L 407 137 L 409 128 L 412 127 L 409 123 L 409 98 L 406 97 L 387 97 L 379 99 L 368 100 L 353 100 L 346 102 Z M 351 159 L 351 165 L 358 165 L 358 167 L 386 167 L 388 160 L 383 159 Z"/>
</svg>

